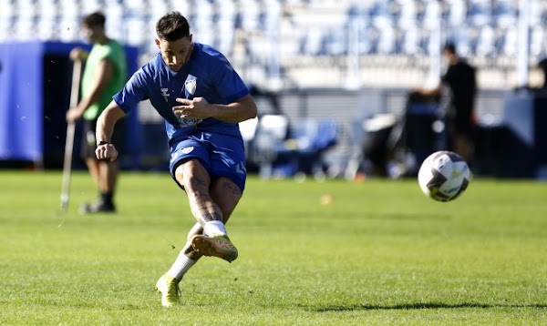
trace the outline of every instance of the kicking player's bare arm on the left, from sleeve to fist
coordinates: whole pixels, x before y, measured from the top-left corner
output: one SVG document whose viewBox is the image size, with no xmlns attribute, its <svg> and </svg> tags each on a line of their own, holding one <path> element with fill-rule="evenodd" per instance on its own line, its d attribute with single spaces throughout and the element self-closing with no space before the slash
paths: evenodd
<svg viewBox="0 0 547 326">
<path fill-rule="evenodd" d="M 118 158 L 118 150 L 110 143 L 114 126 L 116 122 L 125 116 L 125 112 L 114 101 L 108 104 L 108 107 L 98 116 L 97 128 L 95 129 L 95 138 L 97 139 L 97 149 L 95 155 L 98 159 L 115 160 Z"/>
</svg>

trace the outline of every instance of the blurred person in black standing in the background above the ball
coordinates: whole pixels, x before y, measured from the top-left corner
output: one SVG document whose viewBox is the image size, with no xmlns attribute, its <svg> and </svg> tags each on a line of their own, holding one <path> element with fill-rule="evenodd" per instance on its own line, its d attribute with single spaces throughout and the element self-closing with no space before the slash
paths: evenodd
<svg viewBox="0 0 547 326">
<path fill-rule="evenodd" d="M 457 55 L 454 44 L 444 46 L 442 54 L 448 62 L 448 69 L 441 76 L 439 85 L 429 89 L 418 88 L 414 93 L 423 97 L 439 97 L 443 87 L 449 87 L 449 106 L 445 117 L 447 146 L 470 162 L 474 150 L 472 132 L 477 94 L 476 68 Z"/>
</svg>

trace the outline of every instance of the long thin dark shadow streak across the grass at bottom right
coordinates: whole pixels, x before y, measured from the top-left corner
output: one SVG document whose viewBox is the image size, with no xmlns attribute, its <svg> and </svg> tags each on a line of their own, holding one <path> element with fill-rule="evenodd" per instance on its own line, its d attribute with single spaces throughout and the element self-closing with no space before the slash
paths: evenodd
<svg viewBox="0 0 547 326">
<path fill-rule="evenodd" d="M 438 303 L 438 302 L 419 302 L 419 303 L 405 303 L 396 305 L 350 305 L 350 306 L 330 306 L 324 308 L 318 308 L 314 311 L 329 312 L 329 311 L 390 311 L 390 310 L 422 310 L 422 309 L 466 309 L 466 308 L 534 308 L 534 309 L 547 309 L 547 304 L 511 304 L 511 303 Z"/>
</svg>

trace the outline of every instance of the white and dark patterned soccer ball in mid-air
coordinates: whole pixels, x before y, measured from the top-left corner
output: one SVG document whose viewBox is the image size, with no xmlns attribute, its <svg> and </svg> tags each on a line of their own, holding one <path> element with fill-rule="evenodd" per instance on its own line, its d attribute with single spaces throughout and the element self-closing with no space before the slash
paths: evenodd
<svg viewBox="0 0 547 326">
<path fill-rule="evenodd" d="M 470 168 L 458 154 L 446 150 L 428 156 L 418 171 L 418 183 L 424 194 L 439 201 L 454 200 L 470 184 Z"/>
</svg>

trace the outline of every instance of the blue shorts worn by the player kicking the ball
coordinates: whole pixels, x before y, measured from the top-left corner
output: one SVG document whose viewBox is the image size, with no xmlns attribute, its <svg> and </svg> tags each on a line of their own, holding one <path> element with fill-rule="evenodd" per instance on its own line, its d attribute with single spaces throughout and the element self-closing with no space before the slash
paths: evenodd
<svg viewBox="0 0 547 326">
<path fill-rule="evenodd" d="M 242 138 L 202 132 L 171 139 L 170 144 L 169 169 L 175 182 L 175 170 L 186 160 L 198 158 L 212 180 L 229 178 L 243 192 L 247 168 Z"/>
</svg>

